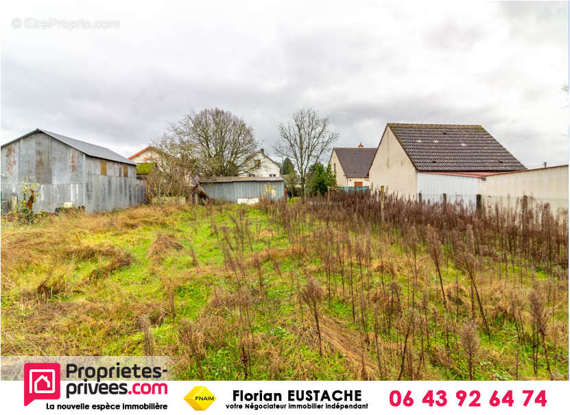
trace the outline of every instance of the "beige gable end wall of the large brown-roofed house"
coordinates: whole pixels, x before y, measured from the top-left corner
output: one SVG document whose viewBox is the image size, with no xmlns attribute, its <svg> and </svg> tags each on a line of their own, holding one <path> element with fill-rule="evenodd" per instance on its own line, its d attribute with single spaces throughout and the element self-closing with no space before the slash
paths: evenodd
<svg viewBox="0 0 570 415">
<path fill-rule="evenodd" d="M 418 193 L 416 176 L 416 167 L 387 127 L 368 173 L 372 191 L 380 191 L 383 186 L 386 193 L 415 198 Z"/>
</svg>

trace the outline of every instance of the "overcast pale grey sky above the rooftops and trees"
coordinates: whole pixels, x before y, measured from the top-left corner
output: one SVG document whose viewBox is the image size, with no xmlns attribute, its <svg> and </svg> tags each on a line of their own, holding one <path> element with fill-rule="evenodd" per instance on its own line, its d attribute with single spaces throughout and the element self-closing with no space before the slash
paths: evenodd
<svg viewBox="0 0 570 415">
<path fill-rule="evenodd" d="M 476 123 L 527 167 L 568 163 L 564 2 L 5 3 L 2 143 L 39 127 L 130 156 L 218 106 L 272 154 L 276 124 L 312 107 L 338 146 L 376 147 L 387 122 Z"/>
</svg>

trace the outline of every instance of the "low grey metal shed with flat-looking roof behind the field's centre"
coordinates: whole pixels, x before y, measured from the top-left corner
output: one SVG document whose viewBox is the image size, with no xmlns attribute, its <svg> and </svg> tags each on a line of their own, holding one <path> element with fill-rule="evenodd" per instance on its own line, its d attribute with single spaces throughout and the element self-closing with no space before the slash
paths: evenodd
<svg viewBox="0 0 570 415">
<path fill-rule="evenodd" d="M 281 177 L 203 178 L 200 186 L 216 202 L 252 204 L 260 198 L 275 200 L 285 195 L 285 181 Z"/>
</svg>

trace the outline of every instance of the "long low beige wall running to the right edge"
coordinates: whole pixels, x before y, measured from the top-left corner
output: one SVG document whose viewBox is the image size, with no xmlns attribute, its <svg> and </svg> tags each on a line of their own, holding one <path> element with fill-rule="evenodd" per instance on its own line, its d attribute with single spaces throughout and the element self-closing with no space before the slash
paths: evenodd
<svg viewBox="0 0 570 415">
<path fill-rule="evenodd" d="M 551 209 L 568 208 L 568 166 L 530 169 L 487 176 L 479 179 L 477 193 L 488 206 L 515 206 L 523 195 L 530 202 L 549 203 Z"/>
</svg>

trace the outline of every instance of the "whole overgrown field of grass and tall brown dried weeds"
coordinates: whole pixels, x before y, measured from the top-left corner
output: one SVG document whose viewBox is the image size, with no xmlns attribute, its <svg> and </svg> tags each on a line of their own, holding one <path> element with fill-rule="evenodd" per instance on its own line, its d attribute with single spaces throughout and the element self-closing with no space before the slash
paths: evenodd
<svg viewBox="0 0 570 415">
<path fill-rule="evenodd" d="M 568 379 L 567 215 L 365 194 L 2 221 L 3 355 L 179 379 Z"/>
</svg>

